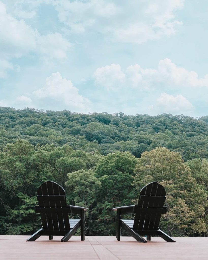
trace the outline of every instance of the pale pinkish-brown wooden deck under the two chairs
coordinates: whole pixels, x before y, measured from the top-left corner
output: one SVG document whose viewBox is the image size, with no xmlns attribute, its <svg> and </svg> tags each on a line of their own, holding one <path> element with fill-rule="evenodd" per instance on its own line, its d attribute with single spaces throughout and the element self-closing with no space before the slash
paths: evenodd
<svg viewBox="0 0 208 260">
<path fill-rule="evenodd" d="M 73 236 L 68 242 L 61 237 L 40 237 L 35 242 L 26 242 L 28 236 L 0 236 L 1 260 L 57 260 L 57 259 L 208 259 L 208 238 L 175 237 L 176 243 L 167 243 L 153 237 L 147 243 L 139 243 L 132 237 Z"/>
</svg>

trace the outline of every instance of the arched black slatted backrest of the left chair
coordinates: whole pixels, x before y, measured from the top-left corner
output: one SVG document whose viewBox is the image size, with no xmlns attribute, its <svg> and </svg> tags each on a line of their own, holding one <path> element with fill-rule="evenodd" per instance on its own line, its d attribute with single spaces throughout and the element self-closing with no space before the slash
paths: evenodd
<svg viewBox="0 0 208 260">
<path fill-rule="evenodd" d="M 37 199 L 42 208 L 66 207 L 65 190 L 54 181 L 46 181 L 37 190 Z M 69 230 L 68 213 L 41 213 L 43 229 Z"/>
</svg>

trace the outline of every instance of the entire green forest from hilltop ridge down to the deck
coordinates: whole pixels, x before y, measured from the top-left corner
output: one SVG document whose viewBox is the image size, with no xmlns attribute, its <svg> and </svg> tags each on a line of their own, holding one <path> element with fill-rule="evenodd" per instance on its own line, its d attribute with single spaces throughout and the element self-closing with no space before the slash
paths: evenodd
<svg viewBox="0 0 208 260">
<path fill-rule="evenodd" d="M 125 115 L 0 107 L 0 234 L 40 227 L 36 191 L 59 183 L 88 207 L 86 235 L 115 235 L 113 207 L 137 204 L 151 181 L 166 190 L 160 227 L 202 236 L 208 227 L 208 116 Z M 133 218 L 133 215 L 129 216 Z"/>
</svg>

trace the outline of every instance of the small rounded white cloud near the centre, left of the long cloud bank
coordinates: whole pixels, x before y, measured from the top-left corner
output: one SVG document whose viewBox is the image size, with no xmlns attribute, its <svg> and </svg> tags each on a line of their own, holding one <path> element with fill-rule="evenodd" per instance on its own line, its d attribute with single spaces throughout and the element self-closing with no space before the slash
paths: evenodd
<svg viewBox="0 0 208 260">
<path fill-rule="evenodd" d="M 121 71 L 119 64 L 111 64 L 97 68 L 93 77 L 98 86 L 106 87 L 109 90 L 121 87 L 125 82 L 126 75 Z"/>
</svg>

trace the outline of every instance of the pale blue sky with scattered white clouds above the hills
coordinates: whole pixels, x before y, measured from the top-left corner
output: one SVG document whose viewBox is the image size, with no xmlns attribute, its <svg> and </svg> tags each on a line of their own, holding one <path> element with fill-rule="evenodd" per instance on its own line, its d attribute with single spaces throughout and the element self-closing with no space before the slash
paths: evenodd
<svg viewBox="0 0 208 260">
<path fill-rule="evenodd" d="M 207 0 L 0 0 L 0 106 L 208 114 Z"/>
</svg>

